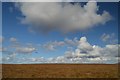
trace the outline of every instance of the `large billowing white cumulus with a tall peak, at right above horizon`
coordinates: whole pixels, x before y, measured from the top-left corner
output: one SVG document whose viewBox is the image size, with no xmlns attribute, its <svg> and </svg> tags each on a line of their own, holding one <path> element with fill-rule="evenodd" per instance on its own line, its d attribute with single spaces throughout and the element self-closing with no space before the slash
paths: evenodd
<svg viewBox="0 0 120 80">
<path fill-rule="evenodd" d="M 81 37 L 77 48 L 73 51 L 66 51 L 64 57 L 76 61 L 86 63 L 100 63 L 103 61 L 116 61 L 118 60 L 118 44 L 106 45 L 100 47 L 91 45 L 87 42 L 86 37 Z"/>
</svg>

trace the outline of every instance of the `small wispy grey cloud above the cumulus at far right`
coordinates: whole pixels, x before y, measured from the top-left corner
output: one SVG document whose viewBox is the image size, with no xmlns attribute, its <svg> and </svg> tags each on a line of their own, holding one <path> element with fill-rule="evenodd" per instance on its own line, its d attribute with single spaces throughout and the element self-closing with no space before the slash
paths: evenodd
<svg viewBox="0 0 120 80">
<path fill-rule="evenodd" d="M 111 43 L 111 44 L 115 44 L 115 43 L 118 42 L 114 33 L 112 33 L 112 34 L 106 34 L 106 33 L 102 34 L 101 40 L 103 42 L 107 42 L 107 43 Z"/>
</svg>

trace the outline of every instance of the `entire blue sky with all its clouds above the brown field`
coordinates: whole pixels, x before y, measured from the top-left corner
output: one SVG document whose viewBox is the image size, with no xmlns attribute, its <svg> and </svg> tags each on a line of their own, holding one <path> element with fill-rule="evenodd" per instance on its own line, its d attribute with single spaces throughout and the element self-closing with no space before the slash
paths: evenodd
<svg viewBox="0 0 120 80">
<path fill-rule="evenodd" d="M 3 2 L 2 63 L 117 63 L 117 2 Z"/>
</svg>

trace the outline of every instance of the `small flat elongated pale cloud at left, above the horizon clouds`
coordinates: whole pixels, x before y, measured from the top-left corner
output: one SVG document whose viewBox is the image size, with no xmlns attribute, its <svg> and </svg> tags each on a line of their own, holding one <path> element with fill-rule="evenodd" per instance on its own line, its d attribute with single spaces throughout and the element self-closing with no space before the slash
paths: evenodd
<svg viewBox="0 0 120 80">
<path fill-rule="evenodd" d="M 32 53 L 36 51 L 36 48 L 34 47 L 18 47 L 16 48 L 17 53 Z"/>
</svg>

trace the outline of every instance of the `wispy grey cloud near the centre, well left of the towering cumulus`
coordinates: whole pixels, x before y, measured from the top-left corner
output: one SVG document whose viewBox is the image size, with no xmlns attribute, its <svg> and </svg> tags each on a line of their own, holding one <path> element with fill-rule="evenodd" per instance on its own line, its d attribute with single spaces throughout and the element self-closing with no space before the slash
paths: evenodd
<svg viewBox="0 0 120 80">
<path fill-rule="evenodd" d="M 63 41 L 47 42 L 42 47 L 46 50 L 54 51 L 57 47 L 63 46 L 65 43 Z"/>
</svg>

